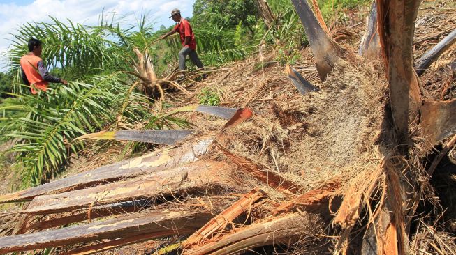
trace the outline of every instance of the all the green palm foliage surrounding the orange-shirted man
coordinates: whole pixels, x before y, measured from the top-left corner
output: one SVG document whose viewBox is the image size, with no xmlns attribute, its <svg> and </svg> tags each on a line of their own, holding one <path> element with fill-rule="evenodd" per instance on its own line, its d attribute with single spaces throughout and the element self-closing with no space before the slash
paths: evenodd
<svg viewBox="0 0 456 255">
<path fill-rule="evenodd" d="M 75 137 L 109 128 L 116 119 L 135 123 L 151 117 L 153 102 L 131 89 L 134 80 L 124 72 L 129 45 L 112 40 L 110 27 L 52 19 L 24 24 L 14 35 L 9 57 L 16 79 L 13 98 L 0 105 L 0 132 L 1 139 L 14 141 L 10 151 L 16 155 L 23 187 L 39 185 L 64 169 L 69 155 L 82 148 L 73 142 Z M 124 39 L 139 44 L 137 35 L 146 38 L 149 31 L 127 29 Z M 29 38 L 43 41 L 43 59 L 48 68 L 71 80 L 68 86 L 51 86 L 47 93 L 31 95 L 21 84 L 18 63 Z"/>
</svg>

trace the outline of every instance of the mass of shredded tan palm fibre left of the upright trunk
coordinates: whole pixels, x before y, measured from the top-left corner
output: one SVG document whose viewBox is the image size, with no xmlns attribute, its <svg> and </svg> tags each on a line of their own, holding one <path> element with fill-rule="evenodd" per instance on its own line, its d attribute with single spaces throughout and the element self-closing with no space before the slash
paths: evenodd
<svg viewBox="0 0 456 255">
<path fill-rule="evenodd" d="M 284 73 L 281 76 L 286 79 Z M 283 91 L 295 90 L 296 94 L 286 96 L 277 91 L 274 101 L 262 105 L 251 102 L 258 114 L 252 121 L 226 132 L 232 137 L 228 149 L 245 157 L 253 156 L 301 183 L 318 182 L 341 173 L 349 178 L 351 169 L 360 171 L 367 158 L 376 158 L 372 144 L 383 114 L 382 82 L 385 81 L 374 66 L 356 69 L 348 64 L 336 68 L 326 82 L 318 84 L 321 92 L 303 97 L 297 95 L 288 80 Z M 303 173 L 310 178 L 301 178 Z"/>
</svg>

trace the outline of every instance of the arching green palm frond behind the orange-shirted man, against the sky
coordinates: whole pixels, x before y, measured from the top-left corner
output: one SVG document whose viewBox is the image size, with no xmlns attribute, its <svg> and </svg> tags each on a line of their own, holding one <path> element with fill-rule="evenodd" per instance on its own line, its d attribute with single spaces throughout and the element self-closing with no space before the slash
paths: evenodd
<svg viewBox="0 0 456 255">
<path fill-rule="evenodd" d="M 73 75 L 87 75 L 114 61 L 113 42 L 101 29 L 89 29 L 81 24 L 60 22 L 27 23 L 17 30 L 10 50 L 10 69 L 19 69 L 20 58 L 28 52 L 27 41 L 37 38 L 43 42 L 43 59 L 49 68 L 71 68 Z"/>
</svg>

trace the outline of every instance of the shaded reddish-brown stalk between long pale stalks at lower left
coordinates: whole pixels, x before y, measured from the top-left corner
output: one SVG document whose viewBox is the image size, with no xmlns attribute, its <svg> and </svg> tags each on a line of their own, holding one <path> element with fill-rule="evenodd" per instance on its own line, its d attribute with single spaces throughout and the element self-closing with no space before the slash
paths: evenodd
<svg viewBox="0 0 456 255">
<path fill-rule="evenodd" d="M 124 203 L 115 203 L 114 205 L 108 206 L 96 206 L 84 212 L 79 212 L 73 215 L 68 215 L 64 217 L 56 217 L 54 219 L 47 219 L 43 221 L 27 223 L 24 230 L 44 230 L 52 229 L 57 226 L 64 226 L 72 224 L 75 222 L 82 222 L 84 220 L 96 219 L 101 217 L 108 217 L 112 215 L 120 215 L 124 213 L 139 212 L 140 210 L 145 210 L 151 205 L 149 199 L 144 199 L 140 201 L 129 201 Z"/>
</svg>

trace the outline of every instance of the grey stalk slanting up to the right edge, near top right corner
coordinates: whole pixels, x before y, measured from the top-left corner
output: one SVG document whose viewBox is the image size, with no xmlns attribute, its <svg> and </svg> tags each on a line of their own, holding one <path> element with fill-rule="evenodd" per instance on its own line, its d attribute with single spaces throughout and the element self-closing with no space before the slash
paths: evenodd
<svg viewBox="0 0 456 255">
<path fill-rule="evenodd" d="M 415 70 L 418 75 L 422 75 L 427 68 L 448 48 L 456 42 L 456 29 L 448 36 L 443 38 L 437 45 L 429 49 L 420 59 L 415 62 Z"/>
</svg>

